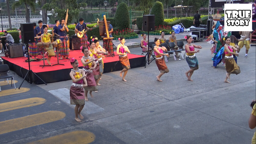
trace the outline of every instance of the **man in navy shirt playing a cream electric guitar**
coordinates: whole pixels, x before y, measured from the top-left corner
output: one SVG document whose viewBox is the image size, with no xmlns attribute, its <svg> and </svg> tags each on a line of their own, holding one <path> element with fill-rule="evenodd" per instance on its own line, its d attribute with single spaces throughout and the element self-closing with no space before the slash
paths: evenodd
<svg viewBox="0 0 256 144">
<path fill-rule="evenodd" d="M 90 30 L 92 30 L 92 28 L 88 28 L 87 26 L 86 26 L 86 24 L 83 22 L 83 18 L 80 18 L 79 19 L 79 24 L 77 24 L 77 26 L 76 26 L 76 32 L 78 32 L 80 35 L 82 35 L 83 34 L 83 30 L 87 30 L 87 29 L 90 29 Z M 81 46 L 85 46 L 85 47 L 87 47 L 88 49 L 89 49 L 89 45 L 88 45 L 88 43 L 87 43 L 87 36 L 86 36 L 86 33 L 83 35 L 83 37 L 82 38 L 80 38 L 80 45 Z"/>
</svg>

